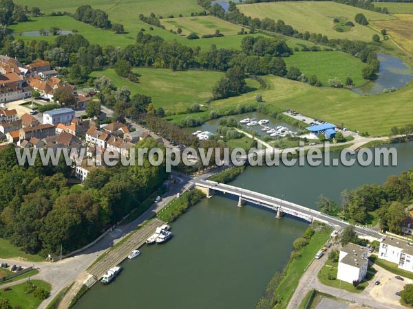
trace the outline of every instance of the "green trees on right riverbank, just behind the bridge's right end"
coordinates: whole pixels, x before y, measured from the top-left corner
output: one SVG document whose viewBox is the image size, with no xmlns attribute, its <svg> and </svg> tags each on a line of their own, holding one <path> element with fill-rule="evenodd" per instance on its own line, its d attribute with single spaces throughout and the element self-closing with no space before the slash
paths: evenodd
<svg viewBox="0 0 413 309">
<path fill-rule="evenodd" d="M 401 233 L 401 223 L 407 217 L 405 207 L 413 196 L 413 170 L 399 176 L 389 176 L 383 185 L 362 185 L 341 193 L 341 205 L 320 196 L 319 209 L 363 224 L 370 211 L 377 211 L 382 229 Z"/>
</svg>

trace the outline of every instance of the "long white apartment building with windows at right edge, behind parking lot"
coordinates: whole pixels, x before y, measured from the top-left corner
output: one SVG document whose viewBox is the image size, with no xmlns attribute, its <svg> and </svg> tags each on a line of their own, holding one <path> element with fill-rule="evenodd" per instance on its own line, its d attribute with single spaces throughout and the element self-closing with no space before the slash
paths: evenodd
<svg viewBox="0 0 413 309">
<path fill-rule="evenodd" d="M 413 243 L 386 237 L 379 247 L 379 259 L 396 263 L 399 268 L 413 272 Z"/>
</svg>

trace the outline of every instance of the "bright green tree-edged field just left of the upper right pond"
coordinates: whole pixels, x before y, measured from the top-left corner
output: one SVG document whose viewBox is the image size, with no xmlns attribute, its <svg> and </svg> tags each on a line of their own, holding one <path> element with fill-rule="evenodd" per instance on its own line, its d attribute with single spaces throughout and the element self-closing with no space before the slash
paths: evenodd
<svg viewBox="0 0 413 309">
<path fill-rule="evenodd" d="M 364 63 L 359 58 L 343 52 L 294 52 L 292 56 L 284 58 L 287 68 L 297 67 L 307 78 L 315 75 L 324 86 L 328 85 L 329 78 L 338 77 L 346 82 L 350 76 L 357 85 L 366 82 L 361 77 Z"/>
</svg>

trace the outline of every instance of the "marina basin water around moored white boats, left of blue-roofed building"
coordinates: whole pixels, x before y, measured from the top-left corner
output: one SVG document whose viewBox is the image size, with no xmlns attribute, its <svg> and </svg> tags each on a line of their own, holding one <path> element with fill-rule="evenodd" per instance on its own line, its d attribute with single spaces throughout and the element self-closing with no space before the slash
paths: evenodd
<svg viewBox="0 0 413 309">
<path fill-rule="evenodd" d="M 275 117 L 271 117 L 268 115 L 264 115 L 262 113 L 254 112 L 254 113 L 244 113 L 244 114 L 239 114 L 239 115 L 232 115 L 228 117 L 234 117 L 237 119 L 237 122 L 239 122 L 241 119 L 244 118 L 255 118 L 257 121 L 260 119 L 267 119 L 269 122 L 268 124 L 265 124 L 265 126 L 269 126 L 270 128 L 275 128 L 276 126 L 285 126 L 288 128 L 288 130 L 291 130 L 293 132 L 297 132 L 299 128 L 297 126 L 293 126 L 292 124 L 287 124 L 284 122 L 282 119 L 277 119 Z M 201 126 L 197 126 L 195 128 L 184 128 L 185 131 L 189 133 L 193 133 L 195 131 L 209 131 L 213 134 L 217 132 L 217 128 L 220 125 L 220 119 L 212 119 L 209 120 L 209 122 L 204 122 Z M 246 130 L 246 132 L 251 133 L 252 131 L 255 131 L 257 133 L 257 136 L 259 137 L 264 137 L 268 136 L 268 134 L 264 131 L 262 131 L 262 126 L 246 126 L 246 124 L 240 124 L 241 125 L 241 130 Z"/>
</svg>

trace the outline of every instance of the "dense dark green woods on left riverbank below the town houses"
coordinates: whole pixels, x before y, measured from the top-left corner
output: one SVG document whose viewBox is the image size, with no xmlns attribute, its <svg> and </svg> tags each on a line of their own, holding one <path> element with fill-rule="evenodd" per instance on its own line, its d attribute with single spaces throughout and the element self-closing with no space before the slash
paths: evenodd
<svg viewBox="0 0 413 309">
<path fill-rule="evenodd" d="M 137 147 L 158 146 L 145 139 Z M 38 156 L 39 157 L 39 156 Z M 89 174 L 83 189 L 71 187 L 72 168 L 64 162 L 19 166 L 14 147 L 0 158 L 0 236 L 28 253 L 67 253 L 94 240 L 165 181 L 165 166 L 116 166 Z"/>
</svg>

